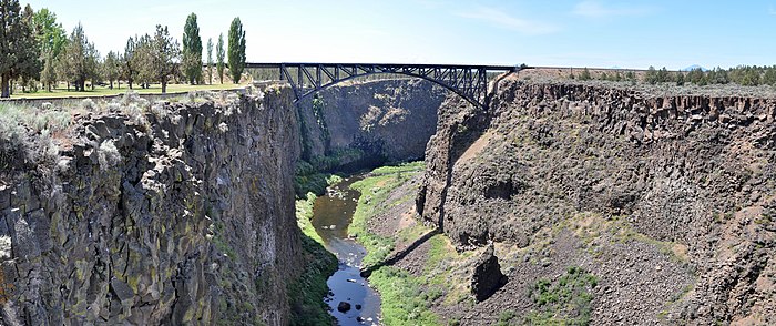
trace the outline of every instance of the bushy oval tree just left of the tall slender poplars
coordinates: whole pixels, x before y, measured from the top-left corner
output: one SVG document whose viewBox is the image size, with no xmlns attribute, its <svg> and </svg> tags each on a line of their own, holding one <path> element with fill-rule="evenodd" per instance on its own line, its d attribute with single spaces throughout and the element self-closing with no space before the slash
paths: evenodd
<svg viewBox="0 0 776 326">
<path fill-rule="evenodd" d="M 155 80 L 162 83 L 162 93 L 167 92 L 167 81 L 177 69 L 181 50 L 177 41 L 170 35 L 167 27 L 156 26 L 156 33 L 151 40 L 151 67 Z"/>
</svg>

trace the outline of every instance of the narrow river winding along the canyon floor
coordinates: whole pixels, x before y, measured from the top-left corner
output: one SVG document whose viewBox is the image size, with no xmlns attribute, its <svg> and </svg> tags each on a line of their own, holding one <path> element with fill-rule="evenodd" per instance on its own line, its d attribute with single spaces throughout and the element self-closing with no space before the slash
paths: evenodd
<svg viewBox="0 0 776 326">
<path fill-rule="evenodd" d="M 359 193 L 350 184 L 363 177 L 350 177 L 327 190 L 325 196 L 315 201 L 313 226 L 324 240 L 324 246 L 339 259 L 339 269 L 328 279 L 331 289 L 326 303 L 339 325 L 379 325 L 380 297 L 359 275 L 366 251 L 348 238 L 348 225 L 356 212 Z M 341 312 L 339 303 L 350 304 Z"/>
</svg>

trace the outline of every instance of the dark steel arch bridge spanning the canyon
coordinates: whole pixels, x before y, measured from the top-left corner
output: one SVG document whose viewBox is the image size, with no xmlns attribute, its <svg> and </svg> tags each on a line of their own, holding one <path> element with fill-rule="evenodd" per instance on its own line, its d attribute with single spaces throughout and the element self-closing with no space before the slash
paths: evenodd
<svg viewBox="0 0 776 326">
<path fill-rule="evenodd" d="M 394 73 L 437 83 L 470 103 L 487 109 L 489 104 L 488 73 L 518 72 L 525 67 L 395 63 L 246 63 L 245 68 L 277 71 L 279 80 L 287 81 L 290 84 L 296 96 L 295 102 L 350 79 L 377 73 Z"/>
</svg>

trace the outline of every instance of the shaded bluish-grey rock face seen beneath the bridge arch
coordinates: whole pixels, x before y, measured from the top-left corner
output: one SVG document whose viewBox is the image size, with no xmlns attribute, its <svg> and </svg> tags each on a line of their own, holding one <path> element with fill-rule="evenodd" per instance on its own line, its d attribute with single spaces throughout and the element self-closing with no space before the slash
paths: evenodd
<svg viewBox="0 0 776 326">
<path fill-rule="evenodd" d="M 382 80 L 324 90 L 299 105 L 303 159 L 361 152 L 341 155 L 338 165 L 345 170 L 421 159 L 447 94 L 422 80 Z"/>
</svg>

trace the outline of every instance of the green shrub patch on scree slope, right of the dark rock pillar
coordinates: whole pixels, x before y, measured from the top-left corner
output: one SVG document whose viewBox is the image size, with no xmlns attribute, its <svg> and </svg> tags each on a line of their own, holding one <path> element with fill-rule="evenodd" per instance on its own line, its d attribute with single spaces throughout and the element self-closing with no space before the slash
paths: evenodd
<svg viewBox="0 0 776 326">
<path fill-rule="evenodd" d="M 548 278 L 537 281 L 529 291 L 537 309 L 523 317 L 523 324 L 590 325 L 591 291 L 596 285 L 595 276 L 575 266 L 569 267 L 554 282 Z"/>
</svg>

